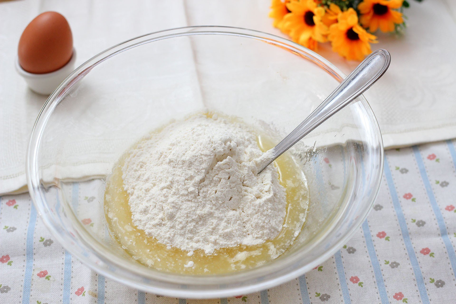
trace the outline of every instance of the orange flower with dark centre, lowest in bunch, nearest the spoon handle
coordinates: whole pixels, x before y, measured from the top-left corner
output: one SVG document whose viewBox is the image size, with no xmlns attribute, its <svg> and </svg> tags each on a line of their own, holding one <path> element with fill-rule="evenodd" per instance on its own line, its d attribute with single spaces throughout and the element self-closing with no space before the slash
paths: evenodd
<svg viewBox="0 0 456 304">
<path fill-rule="evenodd" d="M 340 13 L 337 23 L 329 27 L 329 41 L 332 50 L 348 60 L 363 60 L 371 53 L 370 43 L 378 42 L 358 24 L 358 15 L 352 8 Z"/>
</svg>

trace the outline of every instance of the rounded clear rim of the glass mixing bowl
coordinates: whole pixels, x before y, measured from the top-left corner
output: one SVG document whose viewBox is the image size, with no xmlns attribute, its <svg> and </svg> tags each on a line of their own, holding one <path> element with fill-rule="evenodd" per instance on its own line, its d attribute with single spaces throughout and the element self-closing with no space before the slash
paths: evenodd
<svg viewBox="0 0 456 304">
<path fill-rule="evenodd" d="M 175 33 L 177 31 L 177 33 Z M 247 33 L 247 34 L 246 34 Z M 137 43 L 128 45 L 128 43 L 139 40 L 141 38 L 145 38 L 147 36 L 153 36 L 156 34 L 163 34 L 162 36 L 157 36 L 155 38 L 151 38 L 145 41 L 139 41 Z M 168 35 L 166 35 L 168 34 Z M 156 294 L 163 294 L 168 296 L 178 296 L 178 297 L 186 297 L 186 298 L 214 298 L 214 297 L 226 297 L 232 296 L 237 294 L 246 294 L 251 293 L 263 289 L 267 289 L 280 283 L 284 283 L 288 280 L 298 277 L 299 275 L 306 273 L 311 268 L 315 267 L 316 265 L 322 263 L 326 259 L 330 258 L 342 245 L 347 242 L 349 238 L 353 236 L 358 231 L 358 228 L 362 225 L 363 221 L 367 218 L 369 211 L 378 195 L 378 189 L 381 183 L 381 176 L 383 174 L 383 140 L 380 133 L 380 129 L 378 126 L 377 119 L 372 111 L 372 108 L 368 104 L 367 100 L 363 97 L 363 95 L 358 97 L 358 101 L 361 102 L 361 105 L 365 111 L 367 111 L 368 116 L 372 122 L 372 128 L 376 135 L 378 135 L 378 145 L 379 145 L 379 170 L 376 177 L 376 185 L 374 185 L 373 189 L 373 196 L 371 196 L 371 202 L 363 211 L 362 216 L 359 216 L 356 220 L 356 223 L 349 229 L 346 233 L 344 233 L 337 242 L 335 242 L 332 246 L 328 247 L 326 252 L 322 254 L 319 258 L 316 258 L 311 263 L 307 263 L 300 268 L 295 268 L 290 270 L 288 273 L 280 274 L 276 278 L 269 278 L 266 281 L 258 281 L 256 283 L 249 283 L 248 285 L 242 285 L 238 287 L 228 287 L 225 289 L 211 289 L 211 290 L 201 290 L 201 289 L 182 289 L 179 288 L 175 283 L 176 287 L 166 288 L 166 287 L 155 287 L 151 286 L 146 283 L 142 283 L 140 280 L 134 280 L 133 278 L 119 278 L 119 273 L 108 270 L 103 267 L 103 263 L 106 265 L 113 264 L 113 260 L 107 259 L 106 256 L 95 254 L 95 256 L 102 261 L 103 263 L 95 263 L 95 261 L 85 258 L 82 253 L 76 251 L 74 245 L 71 242 L 62 237 L 61 234 L 58 232 L 58 227 L 55 222 L 53 222 L 49 217 L 45 216 L 47 213 L 45 205 L 46 199 L 44 198 L 43 191 L 40 184 L 39 179 L 39 168 L 37 163 L 37 153 L 41 144 L 41 134 L 47 124 L 47 120 L 49 119 L 50 115 L 52 114 L 54 108 L 57 104 L 62 100 L 62 98 L 66 95 L 66 93 L 71 89 L 71 87 L 77 83 L 81 78 L 90 72 L 90 70 L 95 67 L 96 65 L 104 62 L 105 60 L 109 59 L 117 55 L 119 52 L 124 52 L 130 48 L 140 46 L 142 44 L 150 43 L 153 41 L 161 40 L 161 39 L 169 39 L 177 36 L 190 36 L 190 35 L 234 35 L 234 36 L 241 36 L 241 37 L 248 37 L 254 38 L 257 40 L 263 40 L 265 42 L 274 42 L 276 46 L 284 46 L 287 51 L 294 52 L 296 55 L 305 57 L 307 59 L 311 59 L 311 62 L 317 64 L 319 67 L 324 69 L 326 72 L 331 74 L 335 77 L 338 81 L 341 81 L 343 78 L 346 77 L 336 66 L 334 66 L 331 62 L 327 61 L 320 55 L 316 54 L 315 52 L 296 44 L 292 41 L 289 41 L 285 38 L 280 36 L 276 36 L 273 34 L 265 33 L 262 31 L 250 30 L 240 27 L 232 27 L 232 26 L 186 26 L 186 27 L 177 27 L 163 31 L 155 31 L 145 35 L 137 36 L 135 38 L 131 38 L 129 40 L 120 42 L 110 48 L 104 50 L 103 52 L 99 52 L 97 55 L 93 56 L 83 64 L 81 64 L 78 68 L 76 68 L 72 73 L 70 73 L 65 80 L 63 80 L 60 85 L 52 92 L 52 94 L 47 98 L 47 101 L 44 103 L 43 107 L 40 110 L 40 113 L 37 116 L 36 122 L 33 126 L 31 137 L 29 140 L 28 148 L 27 148 L 27 157 L 26 157 L 26 173 L 27 173 L 27 185 L 29 189 L 29 193 L 31 199 L 36 207 L 37 213 L 40 215 L 43 223 L 49 229 L 54 237 L 60 242 L 62 247 L 64 247 L 68 252 L 70 252 L 73 256 L 78 258 L 84 265 L 88 266 L 89 268 L 93 269 L 97 273 L 101 273 L 106 277 L 112 278 L 116 281 L 121 283 L 127 284 L 133 288 L 141 289 L 148 292 L 153 292 Z M 115 52 L 111 52 L 116 50 L 119 46 L 125 46 Z M 105 55 L 105 56 L 104 56 Z M 93 62 L 89 65 L 90 62 L 98 59 L 96 62 Z M 86 67 L 87 66 L 87 67 Z M 329 68 L 327 68 L 329 67 Z M 79 72 L 80 71 L 80 72 Z M 60 99 L 59 99 L 60 98 Z M 94 250 L 93 247 L 91 247 Z M 290 262 L 289 262 L 290 264 Z M 119 263 L 115 263 L 114 266 L 117 268 L 123 268 L 123 270 L 127 273 L 132 273 L 131 269 L 128 267 L 124 267 L 119 265 Z M 290 266 L 290 265 L 289 265 Z M 267 264 L 262 266 L 262 269 L 267 267 Z M 255 270 L 259 268 L 254 268 L 249 270 L 250 276 L 255 274 Z M 151 272 L 151 271 L 150 271 Z M 158 272 L 158 271 L 155 271 Z M 135 275 L 140 275 L 139 273 L 133 273 Z M 213 276 L 204 276 L 204 278 L 210 278 L 213 281 L 218 281 L 219 278 L 226 278 L 230 277 L 236 279 L 236 277 L 245 277 L 246 272 L 235 272 L 228 275 L 219 275 L 217 278 Z M 268 274 L 271 274 L 268 273 Z M 192 280 L 196 279 L 194 276 L 184 276 L 178 274 L 169 274 L 160 272 L 161 277 L 165 278 L 182 278 L 186 277 L 187 279 L 192 278 Z M 252 277 L 254 278 L 254 276 Z M 238 278 L 239 279 L 239 278 Z M 250 279 L 250 278 L 249 278 Z M 198 279 L 197 279 L 198 280 Z M 174 282 L 173 282 L 174 283 Z M 188 283 L 188 282 L 187 282 Z M 208 285 L 208 284 L 207 284 Z M 198 285 L 200 286 L 200 285 Z M 204 284 L 201 285 L 204 287 Z"/>
</svg>

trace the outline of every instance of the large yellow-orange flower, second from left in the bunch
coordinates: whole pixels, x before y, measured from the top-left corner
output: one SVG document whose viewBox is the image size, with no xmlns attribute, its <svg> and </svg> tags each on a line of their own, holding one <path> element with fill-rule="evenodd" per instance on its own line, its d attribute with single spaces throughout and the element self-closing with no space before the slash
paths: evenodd
<svg viewBox="0 0 456 304">
<path fill-rule="evenodd" d="M 291 1 L 286 4 L 291 11 L 283 18 L 283 28 L 293 41 L 315 50 L 318 42 L 326 41 L 327 26 L 321 21 L 325 9 L 314 0 Z"/>
</svg>

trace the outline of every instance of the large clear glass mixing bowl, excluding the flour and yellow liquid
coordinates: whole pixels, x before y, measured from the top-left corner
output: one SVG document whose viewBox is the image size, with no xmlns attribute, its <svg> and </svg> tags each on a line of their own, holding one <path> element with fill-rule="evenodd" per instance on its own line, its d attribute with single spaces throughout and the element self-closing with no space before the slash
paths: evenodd
<svg viewBox="0 0 456 304">
<path fill-rule="evenodd" d="M 298 143 L 311 199 L 306 224 L 287 252 L 258 268 L 191 276 L 135 262 L 106 229 L 104 179 L 150 130 L 204 109 L 285 136 L 344 77 L 316 53 L 259 31 L 185 27 L 125 41 L 78 67 L 41 109 L 27 156 L 30 195 L 68 252 L 132 287 L 214 298 L 280 284 L 342 247 L 377 195 L 383 145 L 363 96 Z"/>
</svg>

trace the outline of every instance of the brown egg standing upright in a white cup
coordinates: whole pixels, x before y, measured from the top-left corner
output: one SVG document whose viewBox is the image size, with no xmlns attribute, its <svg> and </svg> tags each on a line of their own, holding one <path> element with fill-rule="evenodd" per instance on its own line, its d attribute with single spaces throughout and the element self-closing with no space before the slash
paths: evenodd
<svg viewBox="0 0 456 304">
<path fill-rule="evenodd" d="M 30 73 L 58 70 L 73 56 L 73 35 L 67 19 L 47 11 L 33 19 L 22 33 L 18 47 L 19 64 Z"/>
</svg>

